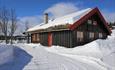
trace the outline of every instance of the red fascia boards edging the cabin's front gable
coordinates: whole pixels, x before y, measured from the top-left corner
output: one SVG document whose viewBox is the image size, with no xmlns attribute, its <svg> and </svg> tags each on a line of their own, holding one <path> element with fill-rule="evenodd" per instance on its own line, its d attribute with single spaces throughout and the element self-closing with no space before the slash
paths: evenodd
<svg viewBox="0 0 115 70">
<path fill-rule="evenodd" d="M 105 27 L 107 28 L 109 34 L 111 34 L 111 30 L 108 27 L 108 24 L 106 23 L 104 17 L 102 16 L 102 14 L 100 13 L 99 9 L 96 7 L 93 10 L 91 10 L 89 13 L 87 13 L 85 16 L 83 16 L 82 18 L 80 18 L 78 21 L 76 21 L 73 25 L 71 25 L 69 27 L 70 30 L 74 30 L 76 27 L 78 27 L 80 24 L 82 24 L 85 20 L 87 20 L 90 16 L 92 16 L 93 14 L 97 13 L 99 15 L 99 17 L 101 18 L 101 20 L 103 21 Z"/>
</svg>

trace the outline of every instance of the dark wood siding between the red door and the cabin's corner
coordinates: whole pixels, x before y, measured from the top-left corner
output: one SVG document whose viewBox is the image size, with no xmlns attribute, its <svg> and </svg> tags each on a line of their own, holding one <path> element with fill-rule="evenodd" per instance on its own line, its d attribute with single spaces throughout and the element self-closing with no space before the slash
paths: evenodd
<svg viewBox="0 0 115 70">
<path fill-rule="evenodd" d="M 65 47 L 72 47 L 71 31 L 53 32 L 53 45 L 60 45 Z"/>
</svg>

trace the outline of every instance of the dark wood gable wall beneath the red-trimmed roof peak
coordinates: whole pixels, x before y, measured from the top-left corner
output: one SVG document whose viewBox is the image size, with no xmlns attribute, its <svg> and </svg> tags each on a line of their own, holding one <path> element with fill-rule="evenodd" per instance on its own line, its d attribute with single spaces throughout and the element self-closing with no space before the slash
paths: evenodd
<svg viewBox="0 0 115 70">
<path fill-rule="evenodd" d="M 91 20 L 92 23 L 93 21 L 96 21 L 97 22 L 97 25 L 94 25 L 94 24 L 88 24 L 88 20 Z M 101 20 L 99 19 L 99 17 L 97 15 L 93 15 L 92 17 L 90 17 L 87 21 L 85 21 L 83 24 L 81 24 L 79 27 L 77 27 L 75 30 L 73 30 L 73 47 L 74 46 L 77 46 L 77 45 L 83 45 L 83 44 L 86 44 L 88 42 L 91 42 L 93 40 L 96 40 L 96 39 L 99 39 L 99 33 L 102 33 L 102 39 L 105 39 L 107 38 L 107 30 L 106 28 L 104 27 L 103 23 L 101 22 Z M 77 39 L 77 32 L 80 31 L 80 32 L 83 32 L 83 41 L 79 41 Z M 94 38 L 90 38 L 89 34 L 90 32 L 94 33 Z"/>
</svg>

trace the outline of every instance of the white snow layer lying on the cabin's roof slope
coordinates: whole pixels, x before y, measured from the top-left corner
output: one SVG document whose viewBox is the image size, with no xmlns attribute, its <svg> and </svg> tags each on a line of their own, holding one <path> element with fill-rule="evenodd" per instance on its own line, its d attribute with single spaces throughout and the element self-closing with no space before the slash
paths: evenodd
<svg viewBox="0 0 115 70">
<path fill-rule="evenodd" d="M 31 32 L 31 31 L 35 31 L 39 29 L 46 29 L 52 26 L 57 26 L 57 25 L 73 24 L 74 22 L 82 18 L 84 15 L 89 13 L 91 10 L 92 10 L 91 8 L 87 8 L 87 9 L 84 9 L 84 10 L 81 10 L 69 15 L 65 15 L 63 17 L 56 18 L 53 21 L 49 20 L 47 24 L 41 23 L 33 28 L 28 29 L 27 32 Z"/>
</svg>

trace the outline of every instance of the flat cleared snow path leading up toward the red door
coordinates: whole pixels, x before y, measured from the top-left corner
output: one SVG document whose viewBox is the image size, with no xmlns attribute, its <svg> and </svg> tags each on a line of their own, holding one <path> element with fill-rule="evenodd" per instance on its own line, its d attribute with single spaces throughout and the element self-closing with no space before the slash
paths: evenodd
<svg viewBox="0 0 115 70">
<path fill-rule="evenodd" d="M 106 70 L 101 66 L 97 67 L 93 64 L 48 52 L 41 46 L 22 45 L 21 48 L 33 56 L 24 70 Z"/>
</svg>

